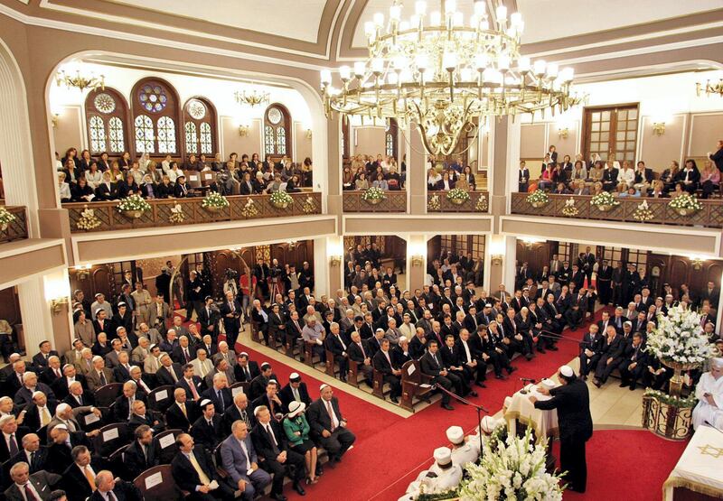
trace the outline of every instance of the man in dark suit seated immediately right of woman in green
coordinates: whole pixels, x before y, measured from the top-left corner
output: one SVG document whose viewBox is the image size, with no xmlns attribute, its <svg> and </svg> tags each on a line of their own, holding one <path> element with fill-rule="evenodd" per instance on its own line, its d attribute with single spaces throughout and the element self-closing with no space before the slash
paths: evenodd
<svg viewBox="0 0 723 501">
<path fill-rule="evenodd" d="M 339 410 L 339 401 L 333 396 L 330 385 L 319 387 L 321 395 L 309 405 L 306 419 L 311 427 L 311 436 L 324 447 L 329 454 L 329 465 L 342 460 L 356 437 L 347 429 L 347 421 Z"/>
</svg>

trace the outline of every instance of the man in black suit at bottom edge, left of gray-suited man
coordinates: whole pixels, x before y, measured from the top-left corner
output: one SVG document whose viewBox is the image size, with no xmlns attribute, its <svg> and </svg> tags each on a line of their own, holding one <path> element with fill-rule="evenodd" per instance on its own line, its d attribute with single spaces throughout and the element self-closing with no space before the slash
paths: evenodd
<svg viewBox="0 0 723 501">
<path fill-rule="evenodd" d="M 233 489 L 219 478 L 211 454 L 201 445 L 195 445 L 191 435 L 178 435 L 175 444 L 179 452 L 171 461 L 171 475 L 176 486 L 191 493 L 186 499 L 212 501 L 233 497 Z M 216 480 L 219 487 L 211 490 L 209 484 L 213 480 Z"/>
</svg>

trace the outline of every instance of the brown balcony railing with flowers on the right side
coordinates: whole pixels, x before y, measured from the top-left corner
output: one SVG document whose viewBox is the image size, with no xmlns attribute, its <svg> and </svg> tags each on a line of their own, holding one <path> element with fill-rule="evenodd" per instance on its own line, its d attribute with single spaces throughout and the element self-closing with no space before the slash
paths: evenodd
<svg viewBox="0 0 723 501">
<path fill-rule="evenodd" d="M 553 218 L 599 219 L 625 223 L 652 223 L 661 225 L 723 227 L 723 200 L 700 200 L 702 209 L 689 215 L 681 215 L 668 207 L 671 199 L 622 198 L 620 205 L 603 211 L 590 204 L 589 195 L 549 195 L 549 203 L 532 207 L 526 200 L 527 193 L 512 193 L 512 214 Z M 570 203 L 568 200 L 573 199 Z M 647 201 L 648 211 L 641 208 Z M 563 212 L 565 209 L 565 212 Z"/>
</svg>

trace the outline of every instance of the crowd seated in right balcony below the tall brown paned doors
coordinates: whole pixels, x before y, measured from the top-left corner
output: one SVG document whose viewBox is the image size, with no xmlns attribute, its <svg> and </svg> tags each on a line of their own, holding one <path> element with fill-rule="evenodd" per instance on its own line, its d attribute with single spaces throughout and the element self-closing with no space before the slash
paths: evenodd
<svg viewBox="0 0 723 501">
<path fill-rule="evenodd" d="M 606 191 L 617 197 L 675 198 L 688 193 L 709 199 L 719 192 L 723 172 L 723 141 L 718 141 L 717 151 L 708 153 L 708 159 L 699 168 L 695 159 L 689 158 L 681 167 L 677 161 L 662 173 L 653 172 L 645 162 L 615 160 L 610 154 L 606 160 L 595 153 L 589 161 L 577 154 L 575 162 L 569 155 L 559 161 L 554 145 L 549 147 L 542 161 L 540 175 L 534 179 L 527 162 L 520 162 L 518 171 L 519 191 L 545 190 L 562 195 L 596 195 Z"/>
</svg>

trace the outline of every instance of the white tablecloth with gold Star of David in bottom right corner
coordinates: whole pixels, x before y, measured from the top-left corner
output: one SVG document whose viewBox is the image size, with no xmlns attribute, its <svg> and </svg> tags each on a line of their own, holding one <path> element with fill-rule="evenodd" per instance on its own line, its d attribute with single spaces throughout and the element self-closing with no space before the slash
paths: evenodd
<svg viewBox="0 0 723 501">
<path fill-rule="evenodd" d="M 665 501 L 672 501 L 675 487 L 723 497 L 723 432 L 698 428 L 663 485 Z"/>
</svg>

